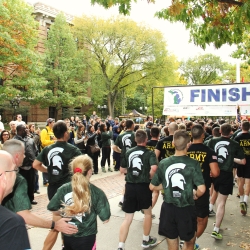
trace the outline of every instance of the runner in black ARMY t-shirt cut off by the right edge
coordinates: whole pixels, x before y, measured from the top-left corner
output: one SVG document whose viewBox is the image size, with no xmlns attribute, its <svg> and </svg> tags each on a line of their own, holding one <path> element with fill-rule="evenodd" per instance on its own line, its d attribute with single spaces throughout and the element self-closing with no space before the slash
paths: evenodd
<svg viewBox="0 0 250 250">
<path fill-rule="evenodd" d="M 250 124 L 248 121 L 242 123 L 242 133 L 235 137 L 235 141 L 243 148 L 246 165 L 237 166 L 237 176 L 239 178 L 238 188 L 240 194 L 240 209 L 243 215 L 247 213 L 247 201 L 250 192 Z M 244 190 L 245 185 L 245 190 Z"/>
</svg>

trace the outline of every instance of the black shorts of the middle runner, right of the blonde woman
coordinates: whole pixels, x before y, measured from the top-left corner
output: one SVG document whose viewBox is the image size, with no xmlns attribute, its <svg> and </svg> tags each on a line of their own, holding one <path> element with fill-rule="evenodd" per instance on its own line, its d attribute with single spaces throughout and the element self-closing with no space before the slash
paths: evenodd
<svg viewBox="0 0 250 250">
<path fill-rule="evenodd" d="M 126 183 L 122 210 L 134 213 L 152 206 L 152 191 L 149 183 Z"/>
</svg>

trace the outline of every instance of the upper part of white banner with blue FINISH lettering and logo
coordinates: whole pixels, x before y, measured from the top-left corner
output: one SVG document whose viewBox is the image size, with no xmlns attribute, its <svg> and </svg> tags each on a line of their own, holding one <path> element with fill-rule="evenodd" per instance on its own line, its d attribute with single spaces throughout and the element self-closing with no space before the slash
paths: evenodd
<svg viewBox="0 0 250 250">
<path fill-rule="evenodd" d="M 250 84 L 166 87 L 164 109 L 169 106 L 249 105 Z"/>
</svg>

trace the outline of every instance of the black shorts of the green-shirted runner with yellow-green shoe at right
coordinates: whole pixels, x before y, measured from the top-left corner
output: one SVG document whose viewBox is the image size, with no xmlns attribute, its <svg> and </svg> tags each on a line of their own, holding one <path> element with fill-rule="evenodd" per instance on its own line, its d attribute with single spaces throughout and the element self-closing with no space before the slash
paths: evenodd
<svg viewBox="0 0 250 250">
<path fill-rule="evenodd" d="M 214 190 L 223 195 L 233 194 L 233 172 L 220 171 L 220 175 L 214 178 Z"/>
</svg>

